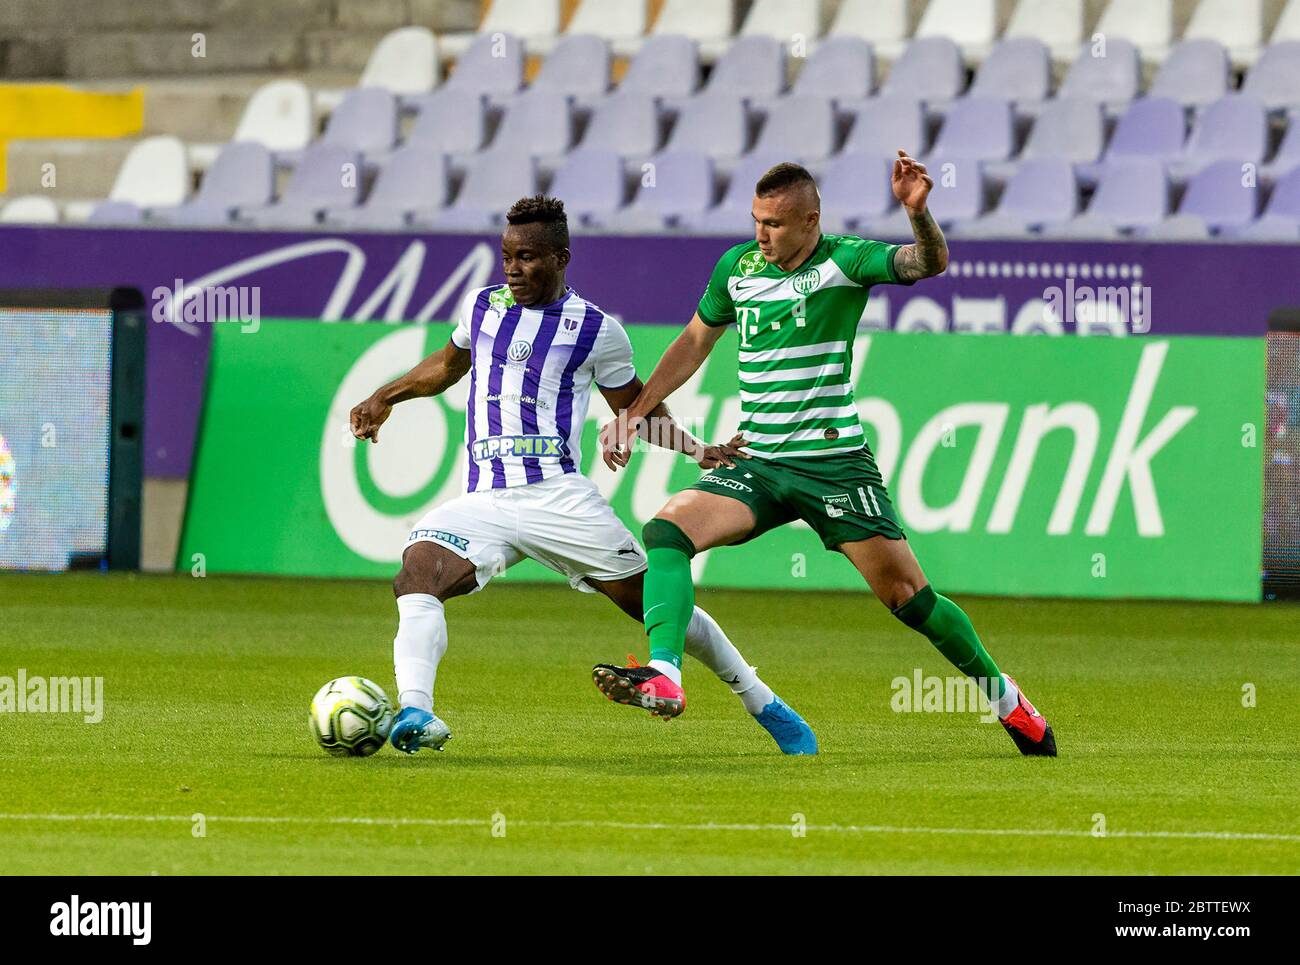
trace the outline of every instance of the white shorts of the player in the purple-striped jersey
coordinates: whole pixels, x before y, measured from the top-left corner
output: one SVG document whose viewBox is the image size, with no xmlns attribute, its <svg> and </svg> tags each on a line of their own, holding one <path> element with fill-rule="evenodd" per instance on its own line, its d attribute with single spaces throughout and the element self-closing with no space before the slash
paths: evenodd
<svg viewBox="0 0 1300 965">
<path fill-rule="evenodd" d="M 621 580 L 646 568 L 645 553 L 595 482 L 576 472 L 511 489 L 465 493 L 430 510 L 407 546 L 436 542 L 474 564 L 478 589 L 525 557 L 594 593 L 585 580 Z"/>
</svg>

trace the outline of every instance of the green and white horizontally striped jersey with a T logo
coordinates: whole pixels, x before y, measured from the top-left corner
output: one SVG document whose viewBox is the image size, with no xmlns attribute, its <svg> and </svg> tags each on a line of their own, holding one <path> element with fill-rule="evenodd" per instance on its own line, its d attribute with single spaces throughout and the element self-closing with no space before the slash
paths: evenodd
<svg viewBox="0 0 1300 965">
<path fill-rule="evenodd" d="M 750 241 L 729 248 L 698 313 L 740 328 L 740 430 L 764 459 L 850 453 L 863 446 L 853 404 L 853 337 L 872 285 L 900 284 L 897 245 L 824 234 L 792 272 Z"/>
</svg>

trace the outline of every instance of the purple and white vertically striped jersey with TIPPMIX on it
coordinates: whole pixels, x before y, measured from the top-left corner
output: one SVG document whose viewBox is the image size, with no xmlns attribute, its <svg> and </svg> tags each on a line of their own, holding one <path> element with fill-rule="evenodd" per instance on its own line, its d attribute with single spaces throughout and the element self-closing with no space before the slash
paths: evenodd
<svg viewBox="0 0 1300 965">
<path fill-rule="evenodd" d="M 471 291 L 451 341 L 471 352 L 467 493 L 578 472 L 592 384 L 637 375 L 623 325 L 573 289 L 528 308 L 504 285 Z"/>
</svg>

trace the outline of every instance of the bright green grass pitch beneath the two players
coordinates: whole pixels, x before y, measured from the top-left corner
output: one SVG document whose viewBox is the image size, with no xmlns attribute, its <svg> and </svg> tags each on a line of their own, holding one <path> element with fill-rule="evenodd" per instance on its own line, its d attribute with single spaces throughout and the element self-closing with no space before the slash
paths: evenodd
<svg viewBox="0 0 1300 965">
<path fill-rule="evenodd" d="M 448 605 L 445 753 L 337 760 L 307 706 L 346 674 L 393 696 L 387 585 L 0 576 L 0 676 L 104 678 L 98 724 L 0 714 L 0 874 L 1300 871 L 1294 606 L 959 598 L 1041 760 L 896 713 L 892 680 L 950 668 L 866 592 L 699 597 L 818 757 L 689 661 L 681 718 L 606 702 L 592 663 L 644 639 L 567 588 Z"/>
</svg>

